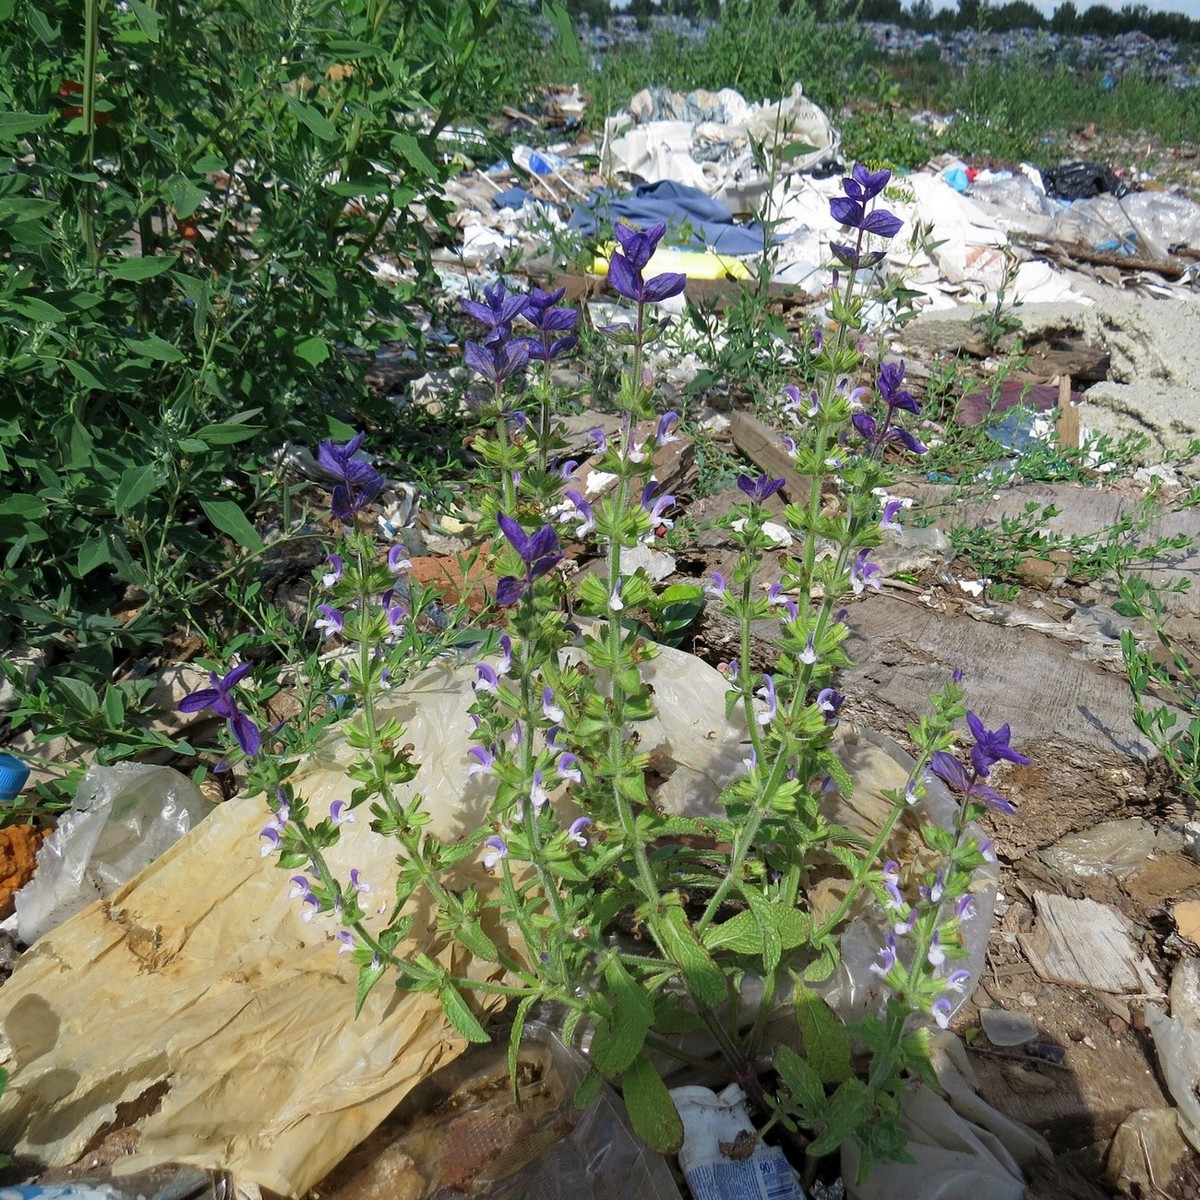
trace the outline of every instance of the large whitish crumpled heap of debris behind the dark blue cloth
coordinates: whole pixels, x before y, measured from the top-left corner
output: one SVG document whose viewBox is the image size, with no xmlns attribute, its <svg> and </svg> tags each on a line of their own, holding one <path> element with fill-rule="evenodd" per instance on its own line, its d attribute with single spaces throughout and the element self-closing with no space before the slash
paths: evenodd
<svg viewBox="0 0 1200 1200">
<path fill-rule="evenodd" d="M 749 104 L 732 88 L 673 92 L 647 88 L 624 113 L 605 120 L 600 168 L 608 175 L 670 179 L 754 211 L 767 175 L 755 163 L 751 140 L 764 144 L 773 173 L 811 172 L 838 161 L 841 136 L 829 118 L 793 84 L 780 101 Z M 785 150 L 810 146 L 809 152 Z"/>
</svg>

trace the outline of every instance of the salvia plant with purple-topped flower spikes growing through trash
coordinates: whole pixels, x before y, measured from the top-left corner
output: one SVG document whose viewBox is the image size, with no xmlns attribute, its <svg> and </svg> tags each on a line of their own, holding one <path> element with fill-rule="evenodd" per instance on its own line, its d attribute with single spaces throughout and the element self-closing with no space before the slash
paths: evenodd
<svg viewBox="0 0 1200 1200">
<path fill-rule="evenodd" d="M 314 626 L 338 653 L 314 654 L 306 666 L 307 688 L 326 702 L 310 707 L 312 720 L 263 728 L 247 712 L 246 664 L 215 671 L 211 686 L 185 701 L 228 724 L 229 762 L 270 808 L 263 853 L 278 856 L 296 918 L 326 924 L 331 942 L 353 955 L 360 1006 L 386 978 L 436 992 L 458 1033 L 484 1042 L 475 1001 L 490 996 L 494 1008 L 502 997 L 514 1064 L 530 1013 L 551 1006 L 568 1037 L 589 1032 L 577 1103 L 601 1080 L 618 1084 L 637 1132 L 664 1151 L 682 1136 L 664 1072 L 671 1060 L 696 1066 L 715 1048 L 763 1129 L 782 1127 L 812 1159 L 847 1139 L 859 1144 L 864 1170 L 872 1157 L 904 1157 L 899 1094 L 913 1076 L 931 1078 L 928 1030 L 948 1025 L 971 983 L 964 931 L 977 872 L 994 857 L 972 826 L 989 806 L 1010 811 L 994 787 L 995 766 L 1028 761 L 1007 725 L 989 728 L 966 710 L 956 673 L 911 731 L 916 760 L 872 835 L 833 823 L 822 803 L 853 788 L 835 739 L 844 702 L 835 673 L 850 661 L 842 605 L 882 584 L 871 552 L 900 512 L 886 498 L 888 458 L 924 451 L 904 424 L 919 415 L 904 365 L 872 367 L 858 349 L 860 269 L 900 228 L 880 205 L 887 182 L 887 172 L 858 166 L 832 202 L 848 236 L 833 246 L 832 324 L 814 332 L 818 385 L 785 395 L 784 440 L 811 482 L 781 517 L 773 514 L 798 547 L 781 577 L 764 587 L 758 572 L 773 545 L 767 502 L 782 480 L 742 475 L 740 503 L 721 522 L 738 558 L 728 577 L 706 581 L 707 602 L 742 630 L 740 653 L 724 665 L 742 770 L 715 815 L 655 805 L 638 737 L 655 712 L 647 664 L 659 652 L 640 619 L 655 593 L 628 566 L 678 516 L 654 475 L 678 421 L 654 410 L 647 370 L 647 348 L 664 328 L 655 306 L 685 283 L 647 275 L 662 226 L 616 229 L 608 281 L 630 308 L 606 331 L 626 370 L 608 397 L 622 414 L 616 432 L 592 436 L 589 478 L 607 480 L 602 494 L 584 494 L 576 463 L 559 457 L 550 366 L 574 348 L 576 324 L 562 293 L 517 295 L 496 284 L 464 304 L 478 326 L 467 361 L 488 392 L 475 442 L 498 580 L 486 634 L 456 632 L 461 612 L 448 613 L 414 581 L 406 548 L 384 556 L 358 532 L 379 478 L 361 438 L 326 442 L 318 455 L 340 480 L 332 511 L 344 536 L 318 580 Z M 599 569 L 568 582 L 560 563 L 571 542 Z M 764 618 L 779 620 L 779 655 L 758 673 L 750 629 Z M 433 836 L 425 799 L 404 786 L 420 764 L 403 728 L 382 715 L 382 697 L 470 636 L 485 653 L 470 668 L 473 739 L 461 776 L 464 787 L 486 785 L 490 806 L 485 822 L 450 842 Z M 964 718 L 966 752 L 955 749 Z M 356 760 L 344 796 L 311 811 L 290 779 L 331 726 Z M 923 865 L 900 863 L 890 835 L 907 810 L 923 811 L 930 775 L 956 798 L 956 816 L 948 827 L 923 822 Z M 328 862 L 350 820 L 396 846 L 395 895 L 382 907 L 372 896 L 370 911 L 370 881 L 358 871 L 340 878 Z M 454 880 L 468 864 L 476 883 L 463 889 Z M 830 872 L 840 878 L 836 904 L 817 911 L 810 888 Z M 436 913 L 444 944 L 491 966 L 475 972 L 486 980 L 452 973 L 445 958 L 402 953 L 418 904 Z M 878 928 L 869 970 L 886 1000 L 845 1024 L 818 989 L 839 966 L 840 931 L 864 913 Z M 796 1036 L 779 1038 L 772 1026 L 768 1039 L 781 1013 L 794 1014 Z"/>
</svg>

